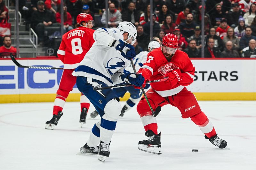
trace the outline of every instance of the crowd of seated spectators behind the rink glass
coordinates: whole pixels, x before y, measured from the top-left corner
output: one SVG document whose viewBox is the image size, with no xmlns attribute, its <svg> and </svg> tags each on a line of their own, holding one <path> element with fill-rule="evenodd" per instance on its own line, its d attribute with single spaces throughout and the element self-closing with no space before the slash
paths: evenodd
<svg viewBox="0 0 256 170">
<path fill-rule="evenodd" d="M 1 2 L 2 0 L 0 0 Z M 1 4 L 1 3 L 0 3 Z M 179 50 L 190 58 L 255 58 L 256 0 L 206 0 L 202 18 L 201 0 L 64 0 L 64 31 L 76 27 L 76 16 L 90 13 L 95 27 L 117 27 L 130 21 L 138 31 L 136 52 L 147 50 L 150 27 L 150 8 L 153 8 L 153 40 L 162 42 L 167 33 L 179 38 Z M 26 6 L 26 3 L 24 3 Z M 23 11 L 26 25 L 30 25 L 39 42 L 44 42 L 47 27 L 60 27 L 60 0 L 31 0 Z M 1 9 L 1 16 L 6 12 Z M 108 12 L 108 18 L 106 18 Z M 7 11 L 8 13 L 8 11 Z M 201 21 L 204 19 L 204 46 Z"/>
</svg>

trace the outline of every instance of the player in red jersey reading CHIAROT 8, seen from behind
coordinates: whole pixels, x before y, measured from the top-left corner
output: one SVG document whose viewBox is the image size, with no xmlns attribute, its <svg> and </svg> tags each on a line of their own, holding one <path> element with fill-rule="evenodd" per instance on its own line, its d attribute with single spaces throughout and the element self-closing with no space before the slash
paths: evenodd
<svg viewBox="0 0 256 170">
<path fill-rule="evenodd" d="M 94 26 L 92 16 L 87 13 L 80 13 L 76 18 L 76 22 L 78 27 L 68 31 L 62 36 L 60 48 L 57 51 L 58 57 L 64 63 L 64 71 L 60 80 L 57 96 L 54 100 L 53 117 L 46 122 L 46 129 L 54 129 L 58 124 L 58 121 L 63 114 L 62 109 L 66 98 L 76 83 L 76 77 L 71 75 L 71 73 L 82 61 L 85 54 L 95 42 L 93 39 L 94 30 L 91 29 Z M 85 119 L 90 106 L 89 102 L 87 97 L 81 94 L 81 114 L 79 120 L 81 127 L 83 123 L 86 122 Z"/>
</svg>

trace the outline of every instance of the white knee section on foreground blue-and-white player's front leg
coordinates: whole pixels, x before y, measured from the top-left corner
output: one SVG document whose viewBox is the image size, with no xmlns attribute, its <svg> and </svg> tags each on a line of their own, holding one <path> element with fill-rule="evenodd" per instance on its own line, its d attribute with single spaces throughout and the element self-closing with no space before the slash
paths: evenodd
<svg viewBox="0 0 256 170">
<path fill-rule="evenodd" d="M 121 104 L 116 100 L 116 98 L 114 98 L 110 100 L 104 107 L 105 114 L 102 116 L 102 118 L 109 121 L 117 121 L 121 110 Z"/>
</svg>

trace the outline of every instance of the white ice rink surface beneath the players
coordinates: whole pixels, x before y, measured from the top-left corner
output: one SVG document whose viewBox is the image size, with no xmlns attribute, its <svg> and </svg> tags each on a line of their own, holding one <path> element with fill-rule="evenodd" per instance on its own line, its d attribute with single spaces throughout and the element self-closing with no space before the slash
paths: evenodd
<svg viewBox="0 0 256 170">
<path fill-rule="evenodd" d="M 122 105 L 124 102 L 122 103 Z M 218 136 L 230 150 L 216 148 L 189 118 L 166 105 L 156 117 L 162 131 L 162 155 L 137 149 L 147 139 L 136 107 L 117 121 L 104 163 L 98 155 L 76 155 L 100 119 L 87 116 L 80 128 L 80 104 L 66 103 L 54 130 L 44 129 L 53 103 L 0 104 L 1 170 L 172 169 L 254 170 L 256 167 L 256 101 L 199 101 Z M 89 114 L 94 111 L 93 106 Z M 198 149 L 198 152 L 192 152 Z"/>
</svg>

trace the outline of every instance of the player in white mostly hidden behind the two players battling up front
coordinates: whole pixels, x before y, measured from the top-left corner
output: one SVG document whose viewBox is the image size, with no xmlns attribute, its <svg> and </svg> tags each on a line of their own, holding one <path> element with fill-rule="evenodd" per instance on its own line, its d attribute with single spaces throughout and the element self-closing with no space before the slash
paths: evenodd
<svg viewBox="0 0 256 170">
<path fill-rule="evenodd" d="M 136 70 L 139 70 L 143 64 L 147 61 L 148 53 L 156 48 L 159 48 L 160 44 L 157 41 L 151 41 L 148 44 L 148 51 L 142 51 L 139 54 L 136 55 L 135 58 L 133 58 L 133 63 Z M 132 66 L 129 65 L 125 67 L 125 72 L 134 73 Z M 149 84 L 146 84 L 146 87 L 144 89 L 149 88 Z M 142 95 L 141 89 L 135 89 L 133 86 L 129 87 L 121 87 L 113 89 L 113 91 L 116 93 L 118 97 L 124 97 L 124 94 L 128 91 L 130 93 L 130 98 L 126 101 L 124 104 L 122 111 L 119 116 L 123 117 L 124 112 L 129 111 L 135 104 L 137 104 L 140 101 L 140 97 Z M 95 118 L 99 113 L 97 110 L 91 113 L 91 117 Z"/>
</svg>

